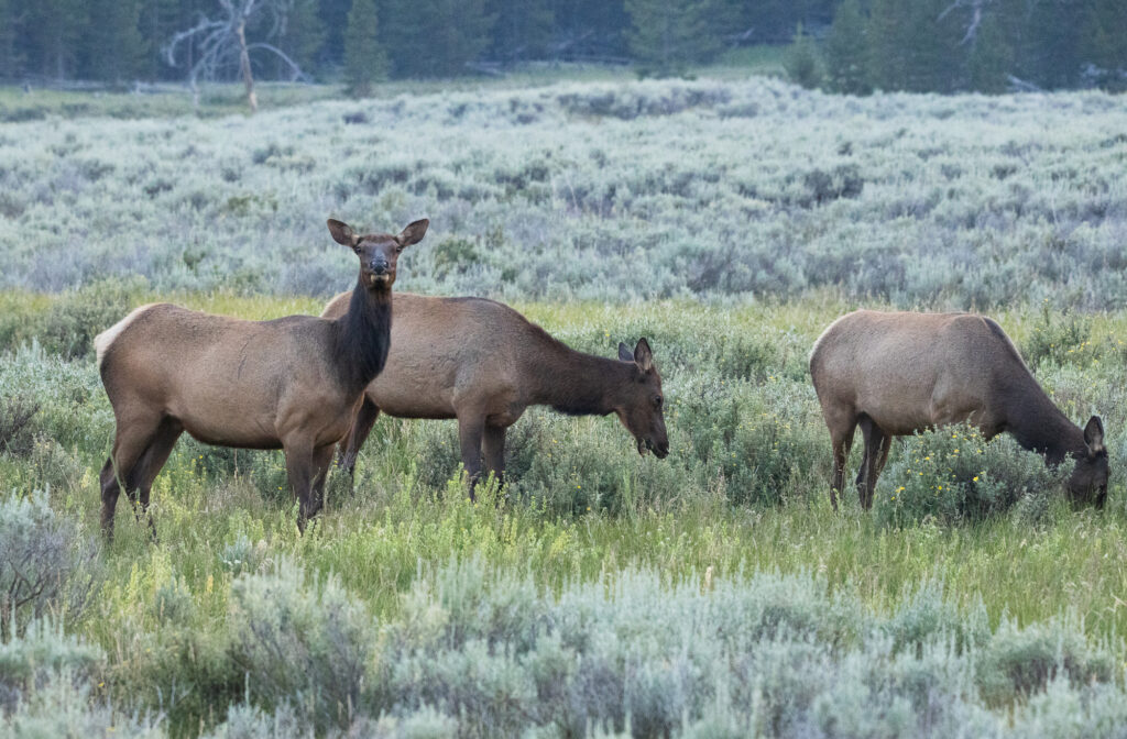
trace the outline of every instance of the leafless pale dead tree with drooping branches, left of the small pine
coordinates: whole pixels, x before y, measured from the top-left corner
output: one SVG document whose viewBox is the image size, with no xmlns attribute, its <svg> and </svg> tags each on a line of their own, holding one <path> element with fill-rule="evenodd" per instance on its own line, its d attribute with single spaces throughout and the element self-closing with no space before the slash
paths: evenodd
<svg viewBox="0 0 1127 739">
<path fill-rule="evenodd" d="M 305 73 L 285 52 L 273 44 L 259 41 L 247 43 L 247 25 L 259 20 L 269 24 L 265 38 L 273 38 L 284 26 L 292 0 L 216 0 L 218 15 L 201 14 L 195 26 L 181 30 L 163 47 L 165 60 L 178 66 L 176 54 L 179 48 L 194 45 L 195 61 L 189 62 L 188 83 L 196 106 L 199 105 L 199 79 L 214 80 L 223 73 L 238 69 L 247 88 L 247 105 L 250 112 L 258 110 L 255 96 L 255 77 L 250 68 L 250 54 L 256 51 L 274 54 L 290 68 L 291 79 L 308 79 Z"/>
</svg>

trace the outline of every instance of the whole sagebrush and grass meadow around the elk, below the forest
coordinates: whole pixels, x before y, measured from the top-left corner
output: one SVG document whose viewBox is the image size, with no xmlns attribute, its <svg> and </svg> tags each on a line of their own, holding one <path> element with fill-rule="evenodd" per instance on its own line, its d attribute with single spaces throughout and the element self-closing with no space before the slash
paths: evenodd
<svg viewBox="0 0 1127 739">
<path fill-rule="evenodd" d="M 1102 94 L 766 79 L 3 124 L 0 725 L 1121 736 L 1125 124 Z M 326 217 L 421 215 L 397 288 L 506 300 L 603 356 L 648 337 L 671 455 L 538 409 L 470 502 L 452 422 L 382 418 L 301 536 L 279 453 L 185 438 L 158 541 L 123 500 L 103 544 L 92 337 L 152 300 L 317 313 L 355 278 Z M 995 317 L 1070 418 L 1102 416 L 1107 508 L 956 428 L 835 514 L 807 356 L 862 305 Z"/>
</svg>

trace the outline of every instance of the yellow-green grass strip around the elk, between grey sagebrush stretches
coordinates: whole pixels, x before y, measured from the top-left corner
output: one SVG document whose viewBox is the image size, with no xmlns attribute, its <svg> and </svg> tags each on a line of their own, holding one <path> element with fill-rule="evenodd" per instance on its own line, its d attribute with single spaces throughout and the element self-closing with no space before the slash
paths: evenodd
<svg viewBox="0 0 1127 739">
<path fill-rule="evenodd" d="M 132 294 L 130 303 L 154 299 L 254 319 L 316 313 L 321 304 L 309 297 L 144 292 Z M 59 300 L 0 293 L 8 315 L 32 327 L 52 315 Z M 669 399 L 671 457 L 639 458 L 612 419 L 533 411 L 514 428 L 511 436 L 523 440 L 512 453 L 541 461 L 558 456 L 559 465 L 544 472 L 518 462 L 525 477 L 547 475 L 542 487 L 517 478 L 509 496 L 499 498 L 488 489 L 471 504 L 456 479 L 443 482 L 456 472 L 452 422 L 383 418 L 362 453 L 355 495 L 339 481 L 330 484 L 327 510 L 300 536 L 278 453 L 236 454 L 181 440 L 153 489 L 159 542 L 150 542 L 147 528 L 121 504 L 117 538 L 100 560 L 100 589 L 69 626 L 108 656 L 99 694 L 118 704 L 161 706 L 177 734 L 190 733 L 201 721 L 206 727 L 221 720 L 222 706 L 239 700 L 242 689 L 221 636 L 228 633 L 233 584 L 239 572 L 264 572 L 289 560 L 300 561 L 310 577 L 338 578 L 387 624 L 403 618 L 408 594 L 450 562 L 480 561 L 498 577 L 527 577 L 540 591 L 557 597 L 637 571 L 651 572 L 669 586 L 703 584 L 706 577 L 737 582 L 771 572 L 815 577 L 829 594 L 855 600 L 876 620 L 896 617 L 913 603 L 921 584 L 939 582 L 959 613 L 969 617 L 983 609 L 993 629 L 1067 617 L 1093 643 L 1111 640 L 1115 659 L 1127 660 L 1127 649 L 1117 641 L 1127 629 L 1127 608 L 1119 598 L 1127 588 L 1121 477 L 1127 445 L 1119 431 L 1125 407 L 1120 394 L 1109 400 L 1097 390 L 1109 376 L 1120 376 L 1117 337 L 1127 332 L 1127 312 L 1085 317 L 1086 335 L 1071 329 L 1066 335 L 1097 348 L 1076 363 L 1067 360 L 1075 355 L 1065 350 L 1064 364 L 1046 362 L 1039 371 L 1066 407 L 1073 402 L 1086 411 L 1088 403 L 1111 403 L 1099 409 L 1113 460 L 1108 510 L 1073 511 L 1057 491 L 1048 516 L 1036 525 L 1003 515 L 971 525 L 899 528 L 881 526 L 877 516 L 860 511 L 853 496 L 846 496 L 841 514 L 828 505 L 828 438 L 805 376 L 805 357 L 820 329 L 849 310 L 849 303 L 827 295 L 734 305 L 668 301 L 518 308 L 570 344 L 603 354 L 611 354 L 620 339 L 648 335 Z M 1039 346 L 1031 338 L 1049 330 L 1046 321 L 1054 314 L 1010 311 L 997 318 L 1019 346 Z M 744 342 L 738 351 L 726 353 L 726 345 L 737 339 Z M 761 344 L 774 350 L 758 364 L 728 364 L 733 356 L 755 354 L 753 347 Z M 18 493 L 46 495 L 55 510 L 77 517 L 95 535 L 96 475 L 113 422 L 91 359 L 60 363 L 26 345 L 9 346 L 6 356 L 0 397 L 11 397 L 15 389 L 30 393 L 43 406 L 36 438 L 48 446 L 54 439 L 55 446 L 51 453 L 0 454 L 0 477 L 16 481 Z M 25 380 L 32 376 L 37 379 Z M 779 491 L 781 505 L 734 505 L 738 491 L 726 479 L 722 460 L 693 440 L 728 428 L 724 412 L 693 410 L 694 393 L 706 388 L 718 408 L 736 402 L 744 409 L 736 411 L 742 425 L 767 428 L 772 421 L 753 412 L 763 408 L 764 416 L 796 426 L 777 436 L 777 443 L 810 439 L 814 457 L 805 462 L 778 460 L 778 449 L 738 460 L 743 468 L 771 463 L 792 470 Z M 898 445 L 894 461 L 899 453 Z M 586 497 L 604 475 L 614 484 Z M 32 492 L 46 486 L 50 492 Z M 613 500 L 598 497 L 605 495 Z M 174 683 L 185 692 L 170 702 L 167 691 Z"/>
</svg>

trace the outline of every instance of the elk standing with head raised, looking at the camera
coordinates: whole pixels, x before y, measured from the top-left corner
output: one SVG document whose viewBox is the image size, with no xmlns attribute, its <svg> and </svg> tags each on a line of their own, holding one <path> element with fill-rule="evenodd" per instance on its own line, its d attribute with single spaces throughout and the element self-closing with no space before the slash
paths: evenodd
<svg viewBox="0 0 1127 739">
<path fill-rule="evenodd" d="M 107 538 L 122 484 L 147 510 L 152 482 L 185 430 L 205 444 L 282 448 L 299 528 L 321 508 L 334 446 L 387 360 L 397 259 L 423 239 L 428 221 L 399 235 L 328 225 L 360 257 L 356 287 L 332 320 L 246 321 L 153 303 L 95 338 L 117 422 L 100 474 Z"/>
</svg>

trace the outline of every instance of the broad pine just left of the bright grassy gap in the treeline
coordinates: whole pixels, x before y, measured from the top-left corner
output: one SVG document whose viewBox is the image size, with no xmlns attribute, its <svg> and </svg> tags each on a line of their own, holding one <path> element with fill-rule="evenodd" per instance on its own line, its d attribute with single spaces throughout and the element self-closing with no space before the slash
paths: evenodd
<svg viewBox="0 0 1127 739">
<path fill-rule="evenodd" d="M 683 74 L 719 48 L 710 33 L 709 0 L 625 0 L 630 53 L 642 77 Z"/>
</svg>

